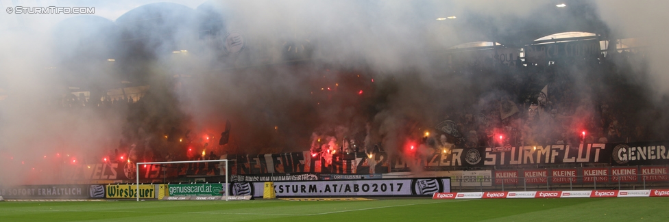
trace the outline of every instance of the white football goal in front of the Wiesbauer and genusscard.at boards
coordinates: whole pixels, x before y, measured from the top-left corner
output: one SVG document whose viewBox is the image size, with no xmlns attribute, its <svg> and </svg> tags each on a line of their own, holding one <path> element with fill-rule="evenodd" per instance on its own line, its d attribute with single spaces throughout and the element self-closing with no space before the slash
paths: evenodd
<svg viewBox="0 0 669 222">
<path fill-rule="evenodd" d="M 206 191 L 209 194 L 204 194 L 204 195 L 223 195 L 223 199 L 228 200 L 228 184 L 230 184 L 230 163 L 228 163 L 229 160 L 227 159 L 218 159 L 218 160 L 202 160 L 202 161 L 165 161 L 165 162 L 145 162 L 145 163 L 135 163 L 135 170 L 136 171 L 136 192 L 139 191 L 139 185 L 140 185 L 140 171 L 138 169 L 141 169 L 141 167 L 150 167 L 153 165 L 162 165 L 162 166 L 169 166 L 169 165 L 183 165 L 183 164 L 205 164 L 207 169 L 211 169 L 219 172 L 219 176 L 224 176 L 225 180 L 219 181 L 218 183 L 221 184 L 220 190 L 217 191 L 217 189 L 206 189 Z M 214 183 L 207 183 L 207 184 L 217 184 L 217 182 Z M 168 184 L 169 186 L 169 184 Z M 182 186 L 182 184 L 173 184 L 173 186 Z M 186 184 L 184 184 L 186 186 Z M 208 186 L 208 185 L 207 185 Z M 192 191 L 192 189 L 185 189 L 186 191 Z M 182 192 L 184 193 L 184 192 Z M 200 192 L 191 192 L 195 193 L 204 193 L 204 191 Z M 137 195 L 137 201 L 139 201 L 139 195 Z"/>
</svg>

